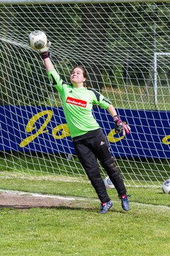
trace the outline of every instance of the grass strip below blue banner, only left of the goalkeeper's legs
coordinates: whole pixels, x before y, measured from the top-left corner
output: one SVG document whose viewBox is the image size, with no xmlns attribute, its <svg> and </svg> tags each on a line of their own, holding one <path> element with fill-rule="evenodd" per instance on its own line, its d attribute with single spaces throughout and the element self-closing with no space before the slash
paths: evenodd
<svg viewBox="0 0 170 256">
<path fill-rule="evenodd" d="M 11 151 L 0 153 L 0 171 L 18 171 L 24 174 L 84 174 L 76 156 L 72 161 L 67 159 L 66 154 L 37 154 Z"/>
</svg>

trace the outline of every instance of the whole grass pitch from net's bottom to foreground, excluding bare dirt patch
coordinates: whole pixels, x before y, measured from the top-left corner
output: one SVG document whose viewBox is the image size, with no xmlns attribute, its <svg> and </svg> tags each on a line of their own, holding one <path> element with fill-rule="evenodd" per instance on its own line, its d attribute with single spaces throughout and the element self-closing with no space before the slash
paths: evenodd
<svg viewBox="0 0 170 256">
<path fill-rule="evenodd" d="M 75 199 L 52 208 L 0 208 L 0 255 L 169 255 L 170 203 L 162 188 L 128 187 L 129 212 L 115 190 L 108 190 L 114 206 L 100 215 L 88 182 L 1 176 L 0 184 L 0 189 Z"/>
</svg>

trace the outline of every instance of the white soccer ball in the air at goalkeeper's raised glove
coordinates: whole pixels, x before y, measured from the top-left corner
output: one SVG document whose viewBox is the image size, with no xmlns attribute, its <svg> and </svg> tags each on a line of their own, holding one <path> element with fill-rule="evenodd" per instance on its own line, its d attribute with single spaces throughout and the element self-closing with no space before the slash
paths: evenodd
<svg viewBox="0 0 170 256">
<path fill-rule="evenodd" d="M 33 31 L 28 36 L 28 44 L 34 50 L 40 50 L 47 45 L 47 36 L 43 31 Z"/>
</svg>

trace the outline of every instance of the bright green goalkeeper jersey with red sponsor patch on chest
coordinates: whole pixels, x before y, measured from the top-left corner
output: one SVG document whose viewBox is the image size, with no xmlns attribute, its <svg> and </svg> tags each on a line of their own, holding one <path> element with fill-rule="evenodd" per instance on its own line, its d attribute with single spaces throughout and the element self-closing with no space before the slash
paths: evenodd
<svg viewBox="0 0 170 256">
<path fill-rule="evenodd" d="M 107 109 L 111 102 L 94 89 L 76 88 L 72 84 L 64 82 L 55 69 L 48 72 L 47 75 L 60 93 L 71 137 L 74 138 L 98 129 L 99 124 L 94 119 L 92 107 L 99 105 L 103 109 Z"/>
</svg>

